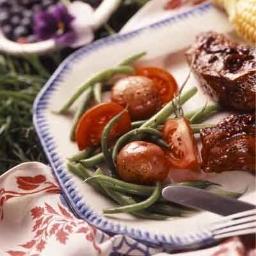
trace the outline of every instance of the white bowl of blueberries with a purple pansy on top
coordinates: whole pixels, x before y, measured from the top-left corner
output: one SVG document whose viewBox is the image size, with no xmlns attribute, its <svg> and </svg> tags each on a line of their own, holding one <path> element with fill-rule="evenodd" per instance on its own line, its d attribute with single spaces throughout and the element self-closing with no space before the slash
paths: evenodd
<svg viewBox="0 0 256 256">
<path fill-rule="evenodd" d="M 0 51 L 42 54 L 82 46 L 121 1 L 0 0 Z"/>
</svg>

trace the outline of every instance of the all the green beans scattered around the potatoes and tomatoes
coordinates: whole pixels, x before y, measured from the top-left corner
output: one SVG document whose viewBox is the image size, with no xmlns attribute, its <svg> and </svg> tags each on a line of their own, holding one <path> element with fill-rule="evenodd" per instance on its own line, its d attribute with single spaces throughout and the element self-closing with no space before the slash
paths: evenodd
<svg viewBox="0 0 256 256">
<path fill-rule="evenodd" d="M 79 90 L 64 104 L 58 113 L 66 113 L 72 104 L 81 95 L 84 95 L 84 99 L 74 115 L 72 130 L 70 132 L 70 138 L 72 140 L 75 139 L 77 122 L 84 111 L 90 107 L 92 99 L 94 99 L 97 104 L 102 102 L 102 91 L 106 90 L 108 80 L 115 74 L 133 74 L 134 68 L 131 66 L 132 63 L 145 54 L 146 52 L 140 52 L 122 61 L 116 67 L 100 72 L 83 83 Z M 109 88 L 111 87 L 108 87 L 108 90 Z M 195 210 L 164 200 L 163 196 L 161 196 L 161 192 L 165 186 L 175 186 L 178 184 L 206 189 L 209 186 L 218 185 L 208 180 L 194 180 L 172 185 L 161 185 L 159 182 L 156 182 L 155 186 L 144 186 L 124 182 L 118 179 L 118 173 L 116 172 L 117 154 L 119 150 L 130 141 L 151 141 L 160 147 L 170 150 L 169 145 L 162 139 L 162 133 L 159 130 L 163 128 L 163 124 L 166 120 L 172 118 L 170 115 L 175 111 L 175 104 L 181 106 L 191 99 L 196 92 L 196 88 L 182 92 L 179 97 L 173 99 L 172 102 L 168 102 L 158 113 L 148 120 L 132 122 L 131 131 L 120 136 L 114 147 L 111 148 L 108 145 L 109 132 L 113 128 L 113 125 L 115 125 L 122 115 L 124 115 L 125 111 L 127 111 L 127 108 L 125 108 L 124 111 L 114 116 L 104 127 L 100 145 L 101 152 L 98 151 L 98 154 L 95 154 L 95 150 L 98 150 L 97 147 L 86 148 L 68 159 L 67 166 L 70 172 L 76 174 L 87 184 L 90 184 L 90 186 L 101 195 L 110 198 L 118 204 L 118 207 L 103 209 L 104 214 L 129 212 L 134 216 L 152 220 L 165 220 L 172 216 L 186 216 L 188 212 Z M 200 129 L 211 126 L 209 124 L 199 124 L 199 122 L 202 122 L 202 120 L 205 120 L 210 115 L 220 110 L 221 108 L 218 104 L 212 104 L 210 106 L 206 106 L 205 104 L 203 108 L 191 111 L 187 113 L 185 117 L 189 119 L 193 132 L 199 132 Z M 99 168 L 100 164 L 103 163 L 107 165 L 111 175 L 105 175 Z M 238 196 L 236 193 L 227 193 L 221 189 L 215 190 L 214 193 L 233 197 Z"/>
</svg>

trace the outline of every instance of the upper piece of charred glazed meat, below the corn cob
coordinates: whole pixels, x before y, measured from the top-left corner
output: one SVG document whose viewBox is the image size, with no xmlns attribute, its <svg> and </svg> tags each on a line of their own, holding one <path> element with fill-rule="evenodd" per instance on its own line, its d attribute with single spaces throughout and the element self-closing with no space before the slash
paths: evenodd
<svg viewBox="0 0 256 256">
<path fill-rule="evenodd" d="M 216 32 L 204 32 L 186 52 L 201 86 L 223 106 L 243 112 L 255 110 L 256 48 L 231 42 Z"/>
</svg>

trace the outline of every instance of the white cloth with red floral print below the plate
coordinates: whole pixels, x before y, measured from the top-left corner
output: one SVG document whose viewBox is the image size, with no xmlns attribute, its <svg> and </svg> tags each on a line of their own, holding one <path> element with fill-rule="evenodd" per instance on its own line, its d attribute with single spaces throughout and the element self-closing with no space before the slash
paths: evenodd
<svg viewBox="0 0 256 256">
<path fill-rule="evenodd" d="M 0 191 L 3 216 L 0 220 L 1 256 L 73 256 L 81 253 L 90 256 L 167 255 L 161 253 L 163 248 L 152 248 L 126 236 L 109 237 L 86 221 L 77 219 L 61 200 L 60 188 L 49 167 L 44 164 L 25 163 L 13 168 L 0 177 Z M 17 198 L 19 200 L 15 200 Z M 14 207 L 8 208 L 12 204 Z M 13 209 L 20 209 L 18 214 L 26 220 L 20 218 L 15 222 L 17 220 L 10 219 Z M 6 214 L 3 215 L 3 212 Z M 23 222 L 26 224 L 22 225 Z M 24 228 L 27 228 L 25 233 Z M 252 242 L 250 246 L 244 246 L 246 243 L 243 242 L 234 237 L 218 246 L 198 250 L 196 255 L 256 256 Z M 250 250 L 246 251 L 246 248 Z M 191 253 L 179 253 L 179 256 L 195 255 Z"/>
</svg>

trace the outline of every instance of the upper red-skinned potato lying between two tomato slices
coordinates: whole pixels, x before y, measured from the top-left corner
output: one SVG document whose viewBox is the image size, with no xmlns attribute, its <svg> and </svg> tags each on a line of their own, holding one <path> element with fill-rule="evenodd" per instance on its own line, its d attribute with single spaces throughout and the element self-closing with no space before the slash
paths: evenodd
<svg viewBox="0 0 256 256">
<path fill-rule="evenodd" d="M 161 108 L 161 98 L 151 79 L 129 76 L 120 79 L 111 90 L 111 101 L 129 105 L 132 120 L 150 118 Z"/>
</svg>

